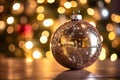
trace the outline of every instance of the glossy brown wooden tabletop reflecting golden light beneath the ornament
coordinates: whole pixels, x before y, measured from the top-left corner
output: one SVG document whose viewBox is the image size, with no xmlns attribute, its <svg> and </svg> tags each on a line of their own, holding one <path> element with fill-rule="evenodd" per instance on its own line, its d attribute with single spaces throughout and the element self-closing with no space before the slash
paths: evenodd
<svg viewBox="0 0 120 80">
<path fill-rule="evenodd" d="M 120 60 L 96 61 L 84 70 L 69 70 L 47 58 L 29 62 L 0 58 L 0 80 L 120 80 Z"/>
</svg>

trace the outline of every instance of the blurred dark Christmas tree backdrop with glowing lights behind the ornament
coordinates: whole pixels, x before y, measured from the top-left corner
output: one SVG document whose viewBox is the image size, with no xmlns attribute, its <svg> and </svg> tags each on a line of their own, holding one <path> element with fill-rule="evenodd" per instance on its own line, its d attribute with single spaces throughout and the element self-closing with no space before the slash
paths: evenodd
<svg viewBox="0 0 120 80">
<path fill-rule="evenodd" d="M 52 33 L 80 10 L 103 40 L 99 60 L 120 58 L 120 0 L 0 0 L 0 57 L 52 58 Z"/>
</svg>

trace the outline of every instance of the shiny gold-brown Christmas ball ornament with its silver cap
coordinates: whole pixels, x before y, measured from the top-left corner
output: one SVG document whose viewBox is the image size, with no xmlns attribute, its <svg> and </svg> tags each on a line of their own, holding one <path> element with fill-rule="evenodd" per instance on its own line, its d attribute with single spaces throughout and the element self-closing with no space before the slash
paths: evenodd
<svg viewBox="0 0 120 80">
<path fill-rule="evenodd" d="M 102 41 L 98 30 L 79 14 L 61 25 L 51 39 L 51 51 L 58 63 L 71 69 L 90 66 L 98 58 Z"/>
</svg>

